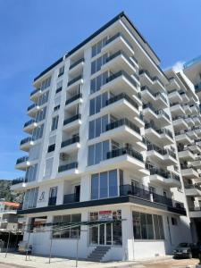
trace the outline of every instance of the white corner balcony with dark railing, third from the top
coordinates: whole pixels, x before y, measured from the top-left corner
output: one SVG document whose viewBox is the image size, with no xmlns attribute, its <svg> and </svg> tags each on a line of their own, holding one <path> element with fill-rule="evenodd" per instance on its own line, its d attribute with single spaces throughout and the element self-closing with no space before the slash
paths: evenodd
<svg viewBox="0 0 201 268">
<path fill-rule="evenodd" d="M 106 83 L 101 87 L 101 92 L 114 91 L 116 94 L 121 92 L 127 95 L 138 96 L 138 83 L 126 71 L 118 71 L 106 79 Z"/>
</svg>

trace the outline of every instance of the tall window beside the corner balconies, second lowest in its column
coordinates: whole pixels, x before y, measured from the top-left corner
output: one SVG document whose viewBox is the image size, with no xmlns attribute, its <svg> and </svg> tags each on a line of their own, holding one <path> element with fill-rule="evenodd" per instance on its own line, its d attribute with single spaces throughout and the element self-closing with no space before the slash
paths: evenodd
<svg viewBox="0 0 201 268">
<path fill-rule="evenodd" d="M 107 158 L 109 152 L 109 140 L 96 143 L 88 147 L 88 165 L 100 163 Z"/>
</svg>

